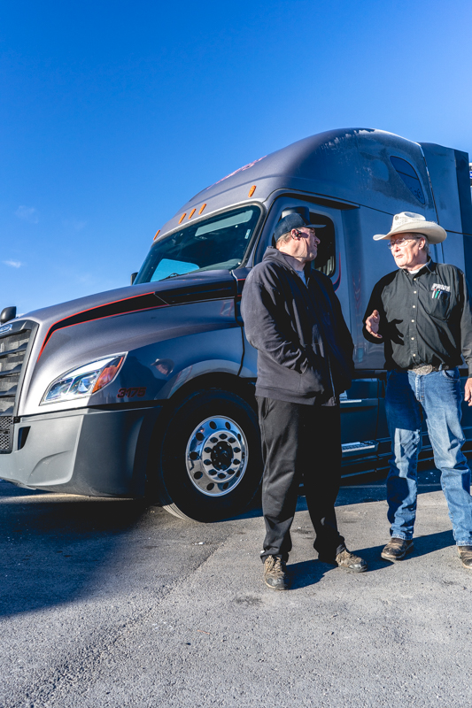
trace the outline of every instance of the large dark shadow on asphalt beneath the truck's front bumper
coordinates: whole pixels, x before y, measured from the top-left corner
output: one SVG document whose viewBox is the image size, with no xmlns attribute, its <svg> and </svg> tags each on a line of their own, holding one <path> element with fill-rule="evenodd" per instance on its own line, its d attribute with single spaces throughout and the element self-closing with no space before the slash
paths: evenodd
<svg viewBox="0 0 472 708">
<path fill-rule="evenodd" d="M 145 511 L 143 501 L 0 486 L 0 616 L 74 601 Z"/>
</svg>

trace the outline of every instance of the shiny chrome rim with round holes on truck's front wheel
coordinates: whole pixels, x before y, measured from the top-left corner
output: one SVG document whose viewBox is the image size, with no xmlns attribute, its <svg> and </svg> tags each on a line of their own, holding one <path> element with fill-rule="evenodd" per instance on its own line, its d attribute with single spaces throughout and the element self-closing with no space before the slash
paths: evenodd
<svg viewBox="0 0 472 708">
<path fill-rule="evenodd" d="M 193 486 L 205 496 L 225 496 L 243 479 L 248 446 L 243 429 L 226 416 L 206 418 L 190 435 L 185 463 Z"/>
</svg>

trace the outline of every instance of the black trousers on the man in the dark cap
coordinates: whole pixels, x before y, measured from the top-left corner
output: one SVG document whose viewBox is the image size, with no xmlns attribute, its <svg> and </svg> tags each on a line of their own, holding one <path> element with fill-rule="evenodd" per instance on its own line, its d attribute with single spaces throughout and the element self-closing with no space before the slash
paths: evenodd
<svg viewBox="0 0 472 708">
<path fill-rule="evenodd" d="M 258 397 L 264 477 L 262 511 L 267 556 L 288 558 L 290 527 L 304 483 L 315 532 L 313 547 L 334 557 L 344 549 L 337 530 L 335 502 L 341 479 L 341 421 L 338 406 L 291 404 Z"/>
</svg>

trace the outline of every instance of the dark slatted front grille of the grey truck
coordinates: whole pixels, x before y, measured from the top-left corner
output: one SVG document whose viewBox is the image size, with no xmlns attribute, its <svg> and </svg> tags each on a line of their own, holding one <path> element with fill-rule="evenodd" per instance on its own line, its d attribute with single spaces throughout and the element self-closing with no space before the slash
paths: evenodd
<svg viewBox="0 0 472 708">
<path fill-rule="evenodd" d="M 30 329 L 0 336 L 0 452 L 12 450 L 13 411 Z"/>
</svg>

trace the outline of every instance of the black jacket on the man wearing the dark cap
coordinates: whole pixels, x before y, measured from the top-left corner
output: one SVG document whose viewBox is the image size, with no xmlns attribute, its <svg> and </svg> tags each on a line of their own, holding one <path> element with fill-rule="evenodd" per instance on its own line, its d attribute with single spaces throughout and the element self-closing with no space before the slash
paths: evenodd
<svg viewBox="0 0 472 708">
<path fill-rule="evenodd" d="M 351 386 L 352 338 L 329 278 L 310 266 L 305 274 L 306 285 L 269 247 L 244 284 L 245 333 L 259 352 L 256 395 L 333 405 Z"/>
</svg>

